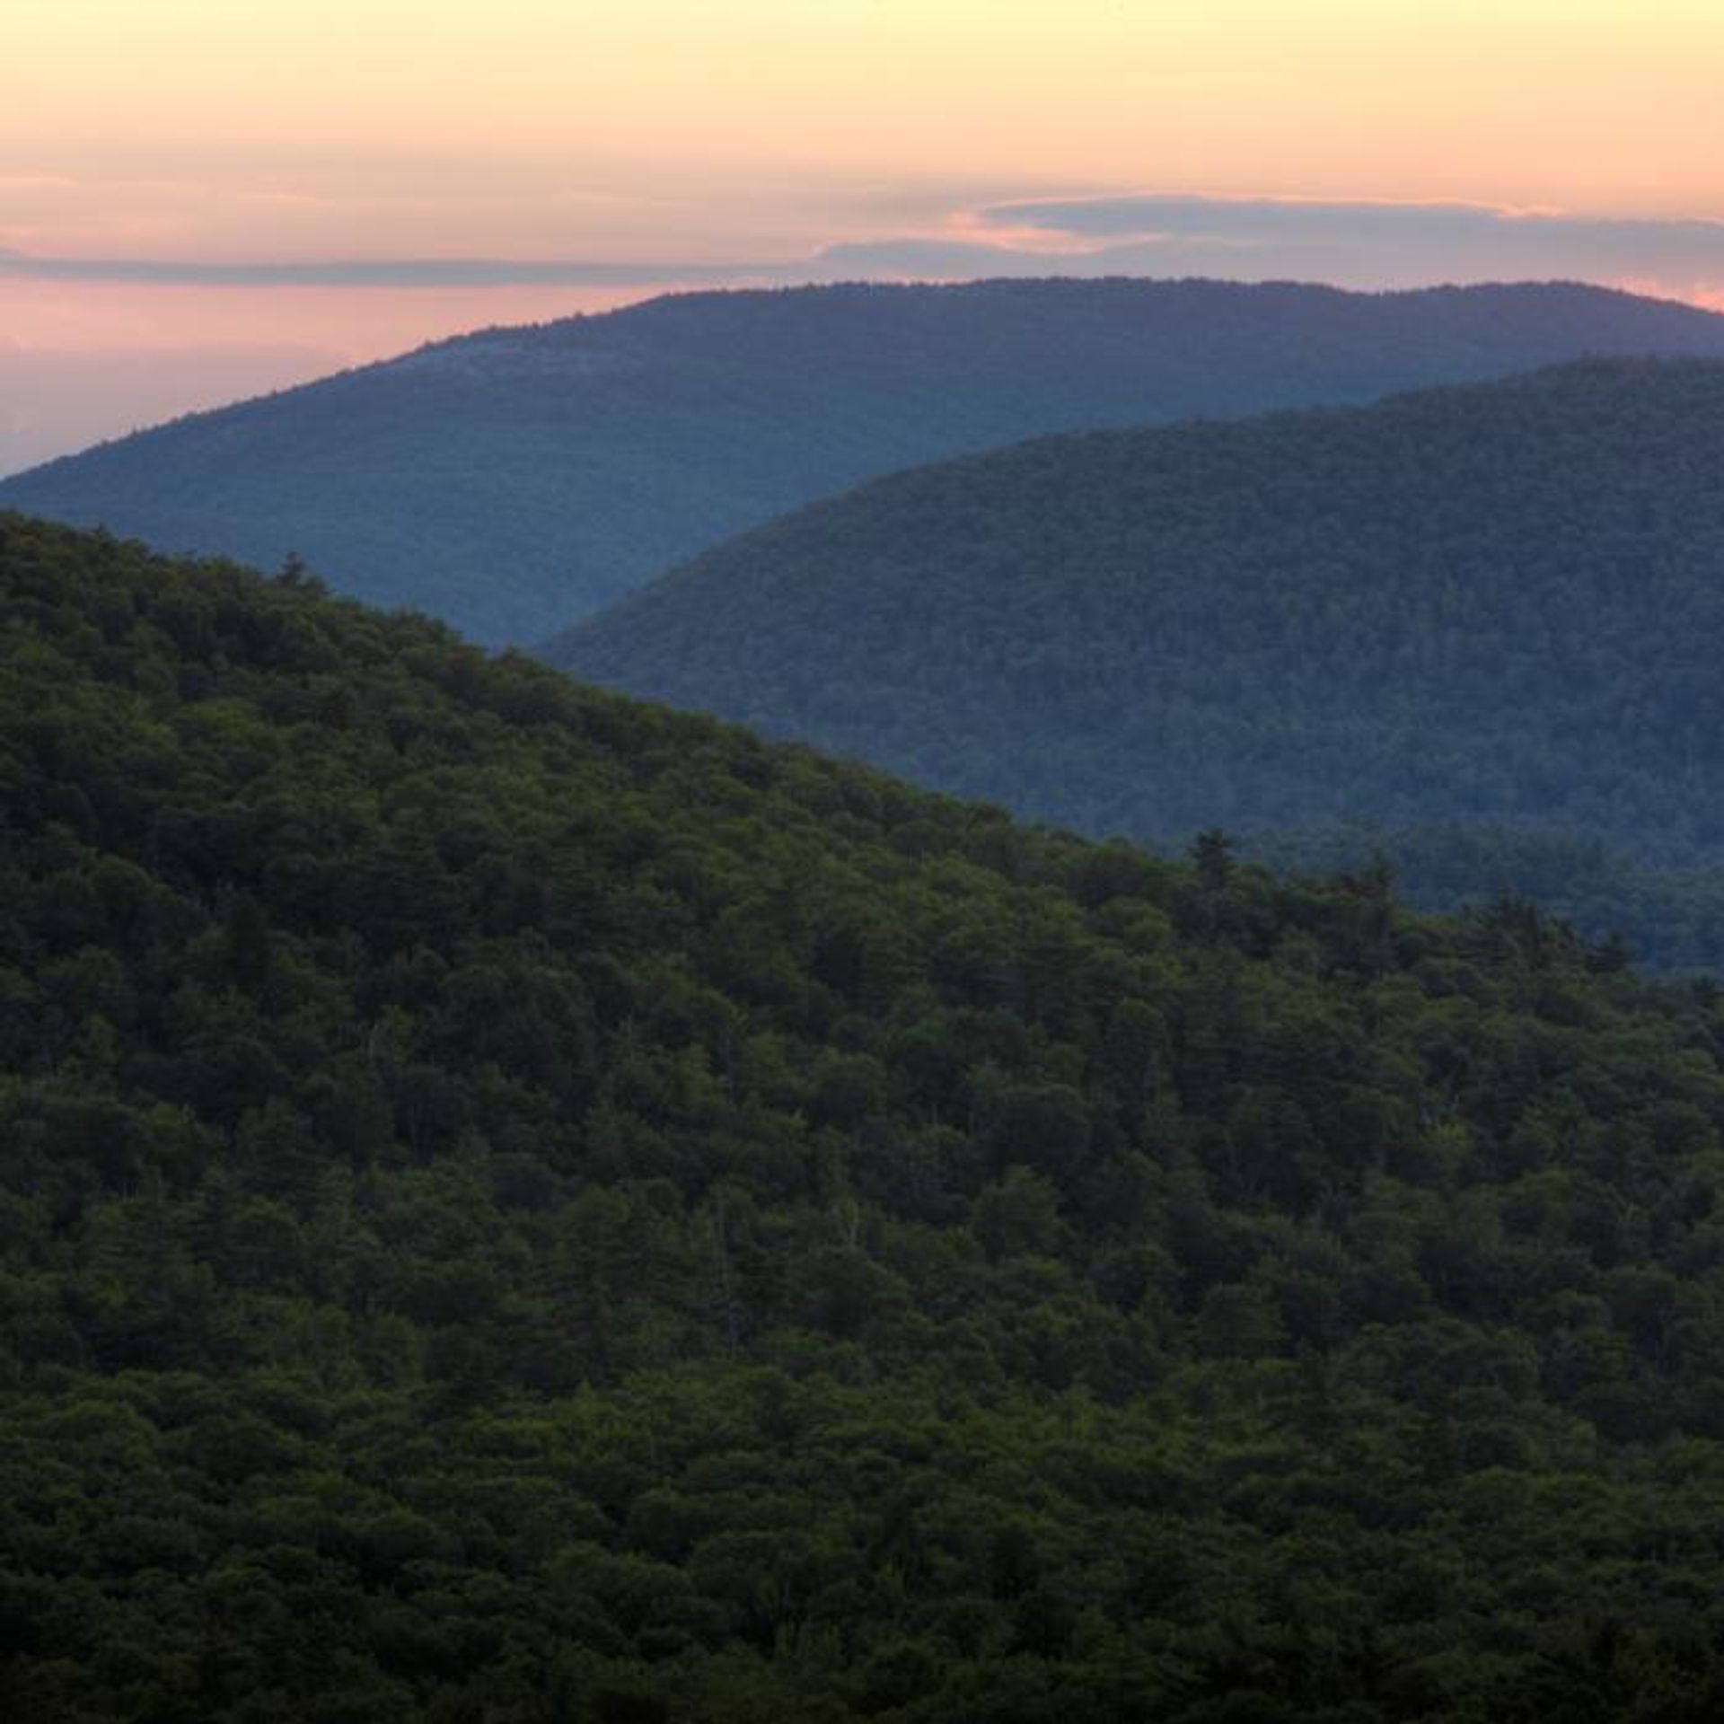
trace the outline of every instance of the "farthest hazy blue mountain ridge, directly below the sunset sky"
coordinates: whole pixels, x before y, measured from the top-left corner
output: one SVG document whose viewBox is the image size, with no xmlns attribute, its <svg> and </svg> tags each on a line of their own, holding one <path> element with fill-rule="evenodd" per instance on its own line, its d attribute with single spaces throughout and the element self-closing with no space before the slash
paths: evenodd
<svg viewBox="0 0 1724 1724">
<path fill-rule="evenodd" d="M 341 591 L 531 645 L 898 467 L 1583 353 L 1724 355 L 1724 317 L 1581 286 L 693 293 L 183 419 L 0 483 L 0 503 L 264 567 L 297 552 Z"/>
</svg>

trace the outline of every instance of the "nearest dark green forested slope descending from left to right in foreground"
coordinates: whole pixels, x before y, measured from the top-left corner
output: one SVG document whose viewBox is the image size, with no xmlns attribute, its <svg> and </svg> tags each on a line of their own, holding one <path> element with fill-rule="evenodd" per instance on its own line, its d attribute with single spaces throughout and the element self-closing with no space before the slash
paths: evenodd
<svg viewBox="0 0 1724 1724">
<path fill-rule="evenodd" d="M 1724 1005 L 0 515 L 19 1719 L 1715 1719 Z"/>
</svg>

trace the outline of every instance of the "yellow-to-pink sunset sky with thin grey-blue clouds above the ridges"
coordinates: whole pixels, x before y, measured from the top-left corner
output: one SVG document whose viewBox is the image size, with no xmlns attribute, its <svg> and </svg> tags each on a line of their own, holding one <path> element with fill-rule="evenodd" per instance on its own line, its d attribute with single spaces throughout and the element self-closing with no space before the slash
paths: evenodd
<svg viewBox="0 0 1724 1724">
<path fill-rule="evenodd" d="M 1724 0 L 0 0 L 0 471 L 679 286 L 1724 309 Z"/>
</svg>

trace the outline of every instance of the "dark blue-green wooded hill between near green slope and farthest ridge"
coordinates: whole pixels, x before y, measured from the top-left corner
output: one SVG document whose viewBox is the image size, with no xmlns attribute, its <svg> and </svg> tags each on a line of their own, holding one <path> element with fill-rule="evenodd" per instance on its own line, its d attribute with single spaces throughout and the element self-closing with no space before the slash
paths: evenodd
<svg viewBox="0 0 1724 1724">
<path fill-rule="evenodd" d="M 1724 860 L 1724 365 L 1026 443 L 552 659 L 1091 833 L 1433 821 Z"/>
</svg>

